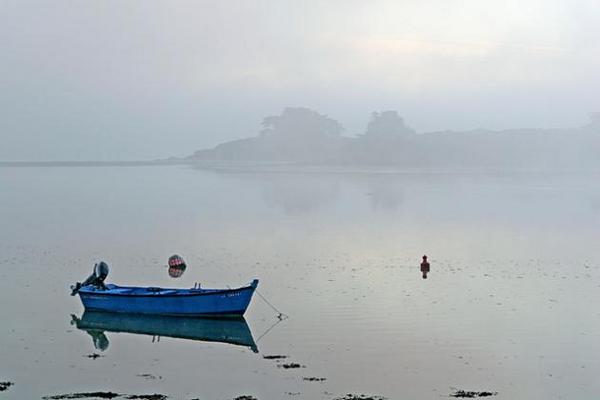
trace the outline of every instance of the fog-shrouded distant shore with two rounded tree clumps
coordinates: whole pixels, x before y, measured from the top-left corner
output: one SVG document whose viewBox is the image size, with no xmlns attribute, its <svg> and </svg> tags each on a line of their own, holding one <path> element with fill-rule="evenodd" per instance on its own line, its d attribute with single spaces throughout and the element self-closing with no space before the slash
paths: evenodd
<svg viewBox="0 0 600 400">
<path fill-rule="evenodd" d="M 262 121 L 258 136 L 199 150 L 193 162 L 393 165 L 403 167 L 588 168 L 600 166 L 600 113 L 572 129 L 416 133 L 397 111 L 371 114 L 364 134 L 304 107 Z"/>
</svg>

